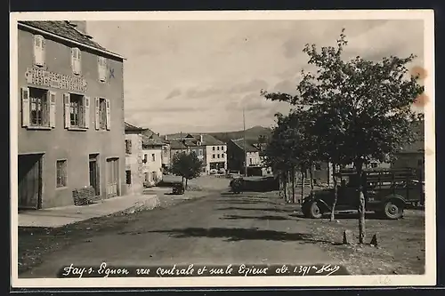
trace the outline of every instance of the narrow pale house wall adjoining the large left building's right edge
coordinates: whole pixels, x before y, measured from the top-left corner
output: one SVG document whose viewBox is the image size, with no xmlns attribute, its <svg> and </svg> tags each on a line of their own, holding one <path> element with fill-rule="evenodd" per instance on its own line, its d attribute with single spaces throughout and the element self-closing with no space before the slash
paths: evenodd
<svg viewBox="0 0 445 296">
<path fill-rule="evenodd" d="M 129 194 L 143 191 L 143 151 L 141 127 L 125 123 L 125 184 Z"/>
</svg>

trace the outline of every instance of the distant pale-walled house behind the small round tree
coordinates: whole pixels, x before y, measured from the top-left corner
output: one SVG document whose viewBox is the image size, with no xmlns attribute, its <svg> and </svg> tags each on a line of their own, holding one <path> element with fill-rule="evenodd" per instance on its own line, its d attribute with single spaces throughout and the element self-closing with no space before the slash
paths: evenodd
<svg viewBox="0 0 445 296">
<path fill-rule="evenodd" d="M 203 172 L 227 169 L 227 145 L 209 134 L 175 133 L 166 135 L 165 141 L 172 157 L 178 152 L 195 153 L 205 164 Z"/>
</svg>

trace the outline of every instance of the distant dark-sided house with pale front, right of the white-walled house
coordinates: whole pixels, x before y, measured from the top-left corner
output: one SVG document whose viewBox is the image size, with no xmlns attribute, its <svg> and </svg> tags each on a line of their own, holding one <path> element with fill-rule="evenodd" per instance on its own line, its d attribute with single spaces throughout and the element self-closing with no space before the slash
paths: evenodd
<svg viewBox="0 0 445 296">
<path fill-rule="evenodd" d="M 244 173 L 247 162 L 247 176 L 263 176 L 268 172 L 271 173 L 271 168 L 263 167 L 262 151 L 263 145 L 253 140 L 246 140 L 246 143 L 244 139 L 230 140 L 227 143 L 228 169 Z"/>
</svg>

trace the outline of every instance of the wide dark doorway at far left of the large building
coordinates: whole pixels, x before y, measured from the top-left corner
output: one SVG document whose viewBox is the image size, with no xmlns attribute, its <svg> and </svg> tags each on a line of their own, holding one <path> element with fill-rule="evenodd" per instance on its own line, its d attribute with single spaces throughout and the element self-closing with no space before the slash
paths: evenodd
<svg viewBox="0 0 445 296">
<path fill-rule="evenodd" d="M 19 156 L 19 209 L 42 207 L 42 159 L 43 154 Z"/>
</svg>

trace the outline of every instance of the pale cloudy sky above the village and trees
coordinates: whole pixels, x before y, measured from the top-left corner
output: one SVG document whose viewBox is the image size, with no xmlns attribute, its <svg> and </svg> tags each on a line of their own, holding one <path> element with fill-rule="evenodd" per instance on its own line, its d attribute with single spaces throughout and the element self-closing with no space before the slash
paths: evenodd
<svg viewBox="0 0 445 296">
<path fill-rule="evenodd" d="M 424 67 L 423 20 L 88 21 L 87 32 L 124 56 L 125 120 L 161 134 L 229 132 L 274 124 L 290 106 L 260 96 L 295 93 L 304 44 L 335 45 L 344 59 L 397 55 Z"/>
</svg>

